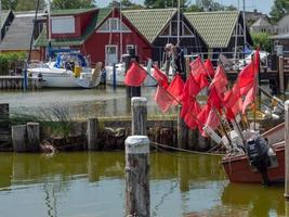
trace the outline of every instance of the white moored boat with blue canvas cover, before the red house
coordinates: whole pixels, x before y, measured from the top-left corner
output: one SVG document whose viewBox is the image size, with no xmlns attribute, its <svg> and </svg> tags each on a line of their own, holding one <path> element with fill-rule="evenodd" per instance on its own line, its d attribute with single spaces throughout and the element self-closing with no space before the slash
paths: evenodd
<svg viewBox="0 0 289 217">
<path fill-rule="evenodd" d="M 94 88 L 101 81 L 101 64 L 89 66 L 88 60 L 79 52 L 57 53 L 54 61 L 31 63 L 27 72 L 40 79 L 42 87 Z"/>
</svg>

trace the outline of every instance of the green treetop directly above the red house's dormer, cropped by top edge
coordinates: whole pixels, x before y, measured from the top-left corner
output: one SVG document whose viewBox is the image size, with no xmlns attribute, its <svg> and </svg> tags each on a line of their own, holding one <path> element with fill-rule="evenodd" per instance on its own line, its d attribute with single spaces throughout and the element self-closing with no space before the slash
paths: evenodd
<svg viewBox="0 0 289 217">
<path fill-rule="evenodd" d="M 94 0 L 52 0 L 53 9 L 89 9 L 94 7 Z"/>
</svg>

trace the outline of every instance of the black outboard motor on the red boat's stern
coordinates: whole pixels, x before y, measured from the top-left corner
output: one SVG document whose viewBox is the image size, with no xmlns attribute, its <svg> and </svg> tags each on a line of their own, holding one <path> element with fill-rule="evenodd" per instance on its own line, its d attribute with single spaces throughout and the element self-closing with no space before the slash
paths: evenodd
<svg viewBox="0 0 289 217">
<path fill-rule="evenodd" d="M 268 145 L 264 138 L 257 137 L 254 139 L 250 139 L 247 142 L 247 154 L 250 161 L 250 164 L 253 165 L 258 171 L 262 175 L 263 183 L 268 186 L 268 175 L 267 175 L 267 166 L 268 166 Z"/>
</svg>

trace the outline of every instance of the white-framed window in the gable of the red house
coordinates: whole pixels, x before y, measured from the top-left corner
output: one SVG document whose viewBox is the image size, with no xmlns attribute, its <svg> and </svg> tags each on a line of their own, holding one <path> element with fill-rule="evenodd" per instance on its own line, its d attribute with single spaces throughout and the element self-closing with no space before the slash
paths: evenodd
<svg viewBox="0 0 289 217">
<path fill-rule="evenodd" d="M 104 24 L 98 28 L 98 33 L 131 33 L 128 26 L 126 24 L 121 24 L 120 26 L 120 20 L 119 18 L 108 18 Z"/>
</svg>

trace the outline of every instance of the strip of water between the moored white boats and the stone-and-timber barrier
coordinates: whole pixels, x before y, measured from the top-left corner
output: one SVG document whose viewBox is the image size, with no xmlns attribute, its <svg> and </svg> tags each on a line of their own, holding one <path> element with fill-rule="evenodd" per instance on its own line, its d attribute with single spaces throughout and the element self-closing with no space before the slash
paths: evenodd
<svg viewBox="0 0 289 217">
<path fill-rule="evenodd" d="M 154 101 L 155 88 L 143 88 L 150 114 L 160 113 Z M 106 89 L 42 89 L 39 91 L 1 91 L 0 103 L 9 103 L 12 114 L 49 112 L 51 107 L 65 106 L 74 118 L 130 114 L 131 102 L 126 88 Z"/>
</svg>

